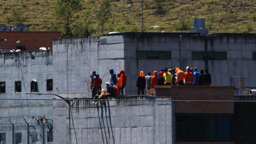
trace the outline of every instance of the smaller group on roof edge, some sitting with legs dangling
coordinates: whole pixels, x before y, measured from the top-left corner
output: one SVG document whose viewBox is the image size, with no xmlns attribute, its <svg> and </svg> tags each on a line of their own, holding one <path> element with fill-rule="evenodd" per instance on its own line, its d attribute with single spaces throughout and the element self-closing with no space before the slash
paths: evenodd
<svg viewBox="0 0 256 144">
<path fill-rule="evenodd" d="M 106 90 L 101 87 L 102 79 L 96 71 L 92 71 L 90 74 L 91 83 L 90 89 L 92 91 L 92 99 L 102 99 L 105 100 L 107 97 L 115 97 L 116 95 L 124 95 L 124 87 L 126 85 L 127 76 L 124 70 L 120 70 L 120 73 L 116 75 L 113 69 L 109 69 L 111 74 L 110 82 L 106 83 Z M 98 100 L 92 102 L 92 104 L 97 104 Z M 106 101 L 103 101 L 101 105 L 106 105 Z"/>
</svg>

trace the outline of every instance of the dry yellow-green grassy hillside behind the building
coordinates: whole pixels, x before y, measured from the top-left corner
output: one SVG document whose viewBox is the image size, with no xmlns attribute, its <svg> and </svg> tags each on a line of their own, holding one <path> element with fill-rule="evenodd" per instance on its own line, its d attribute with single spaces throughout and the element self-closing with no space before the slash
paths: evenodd
<svg viewBox="0 0 256 144">
<path fill-rule="evenodd" d="M 141 31 L 141 0 L 130 9 L 127 31 Z M 75 15 L 77 22 L 84 17 L 90 6 L 90 19 L 95 32 L 101 35 L 96 18 L 102 0 L 81 0 L 84 9 Z M 112 0 L 112 15 L 105 25 L 105 32 L 125 31 L 130 0 Z M 162 25 L 148 31 L 189 31 L 193 18 L 205 18 L 210 33 L 256 33 L 256 1 L 253 0 L 144 0 L 143 28 Z M 1 24 L 28 25 L 31 31 L 51 31 L 59 22 L 54 15 L 54 0 L 2 0 L 0 1 Z M 20 22 L 17 22 L 20 21 Z M 76 27 L 76 23 L 73 27 Z"/>
</svg>

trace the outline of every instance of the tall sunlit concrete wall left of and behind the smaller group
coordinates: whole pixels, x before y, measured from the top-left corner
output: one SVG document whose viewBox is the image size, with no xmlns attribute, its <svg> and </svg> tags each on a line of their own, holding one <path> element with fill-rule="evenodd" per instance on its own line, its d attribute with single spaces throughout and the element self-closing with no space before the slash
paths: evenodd
<svg viewBox="0 0 256 144">
<path fill-rule="evenodd" d="M 95 70 L 102 86 L 109 69 L 124 69 L 123 36 L 53 39 L 53 93 L 63 97 L 91 97 L 89 74 Z"/>
</svg>

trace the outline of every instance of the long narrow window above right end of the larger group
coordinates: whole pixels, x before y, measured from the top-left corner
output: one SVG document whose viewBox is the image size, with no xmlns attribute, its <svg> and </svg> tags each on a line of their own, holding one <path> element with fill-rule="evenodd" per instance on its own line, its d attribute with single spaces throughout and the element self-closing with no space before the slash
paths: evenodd
<svg viewBox="0 0 256 144">
<path fill-rule="evenodd" d="M 192 52 L 192 60 L 227 60 L 227 52 Z"/>
</svg>

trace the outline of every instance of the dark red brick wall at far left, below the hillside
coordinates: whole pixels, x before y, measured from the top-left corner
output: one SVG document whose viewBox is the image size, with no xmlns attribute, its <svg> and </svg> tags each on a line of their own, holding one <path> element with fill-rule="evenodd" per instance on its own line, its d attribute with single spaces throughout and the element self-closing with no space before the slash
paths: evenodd
<svg viewBox="0 0 256 144">
<path fill-rule="evenodd" d="M 27 51 L 39 51 L 40 47 L 52 50 L 52 39 L 61 38 L 61 31 L 0 31 L 0 46 L 17 50 L 17 41 L 25 45 Z M 7 39 L 6 42 L 2 39 Z M 0 48 L 1 49 L 1 48 Z"/>
</svg>

